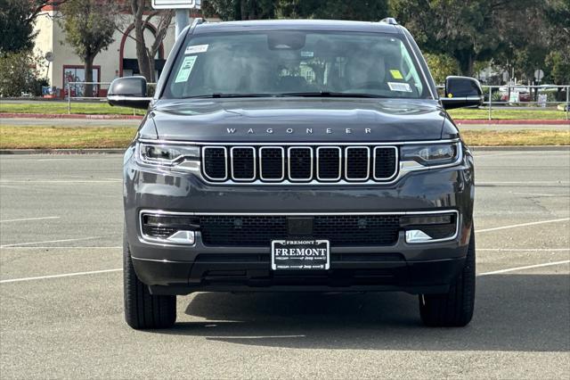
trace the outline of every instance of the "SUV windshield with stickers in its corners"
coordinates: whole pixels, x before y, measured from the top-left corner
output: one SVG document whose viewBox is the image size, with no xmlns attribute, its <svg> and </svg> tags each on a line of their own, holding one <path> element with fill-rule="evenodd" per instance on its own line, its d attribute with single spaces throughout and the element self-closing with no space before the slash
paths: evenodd
<svg viewBox="0 0 570 380">
<path fill-rule="evenodd" d="M 395 35 L 288 30 L 189 37 L 163 94 L 287 95 L 429 97 L 417 62 Z"/>
</svg>

